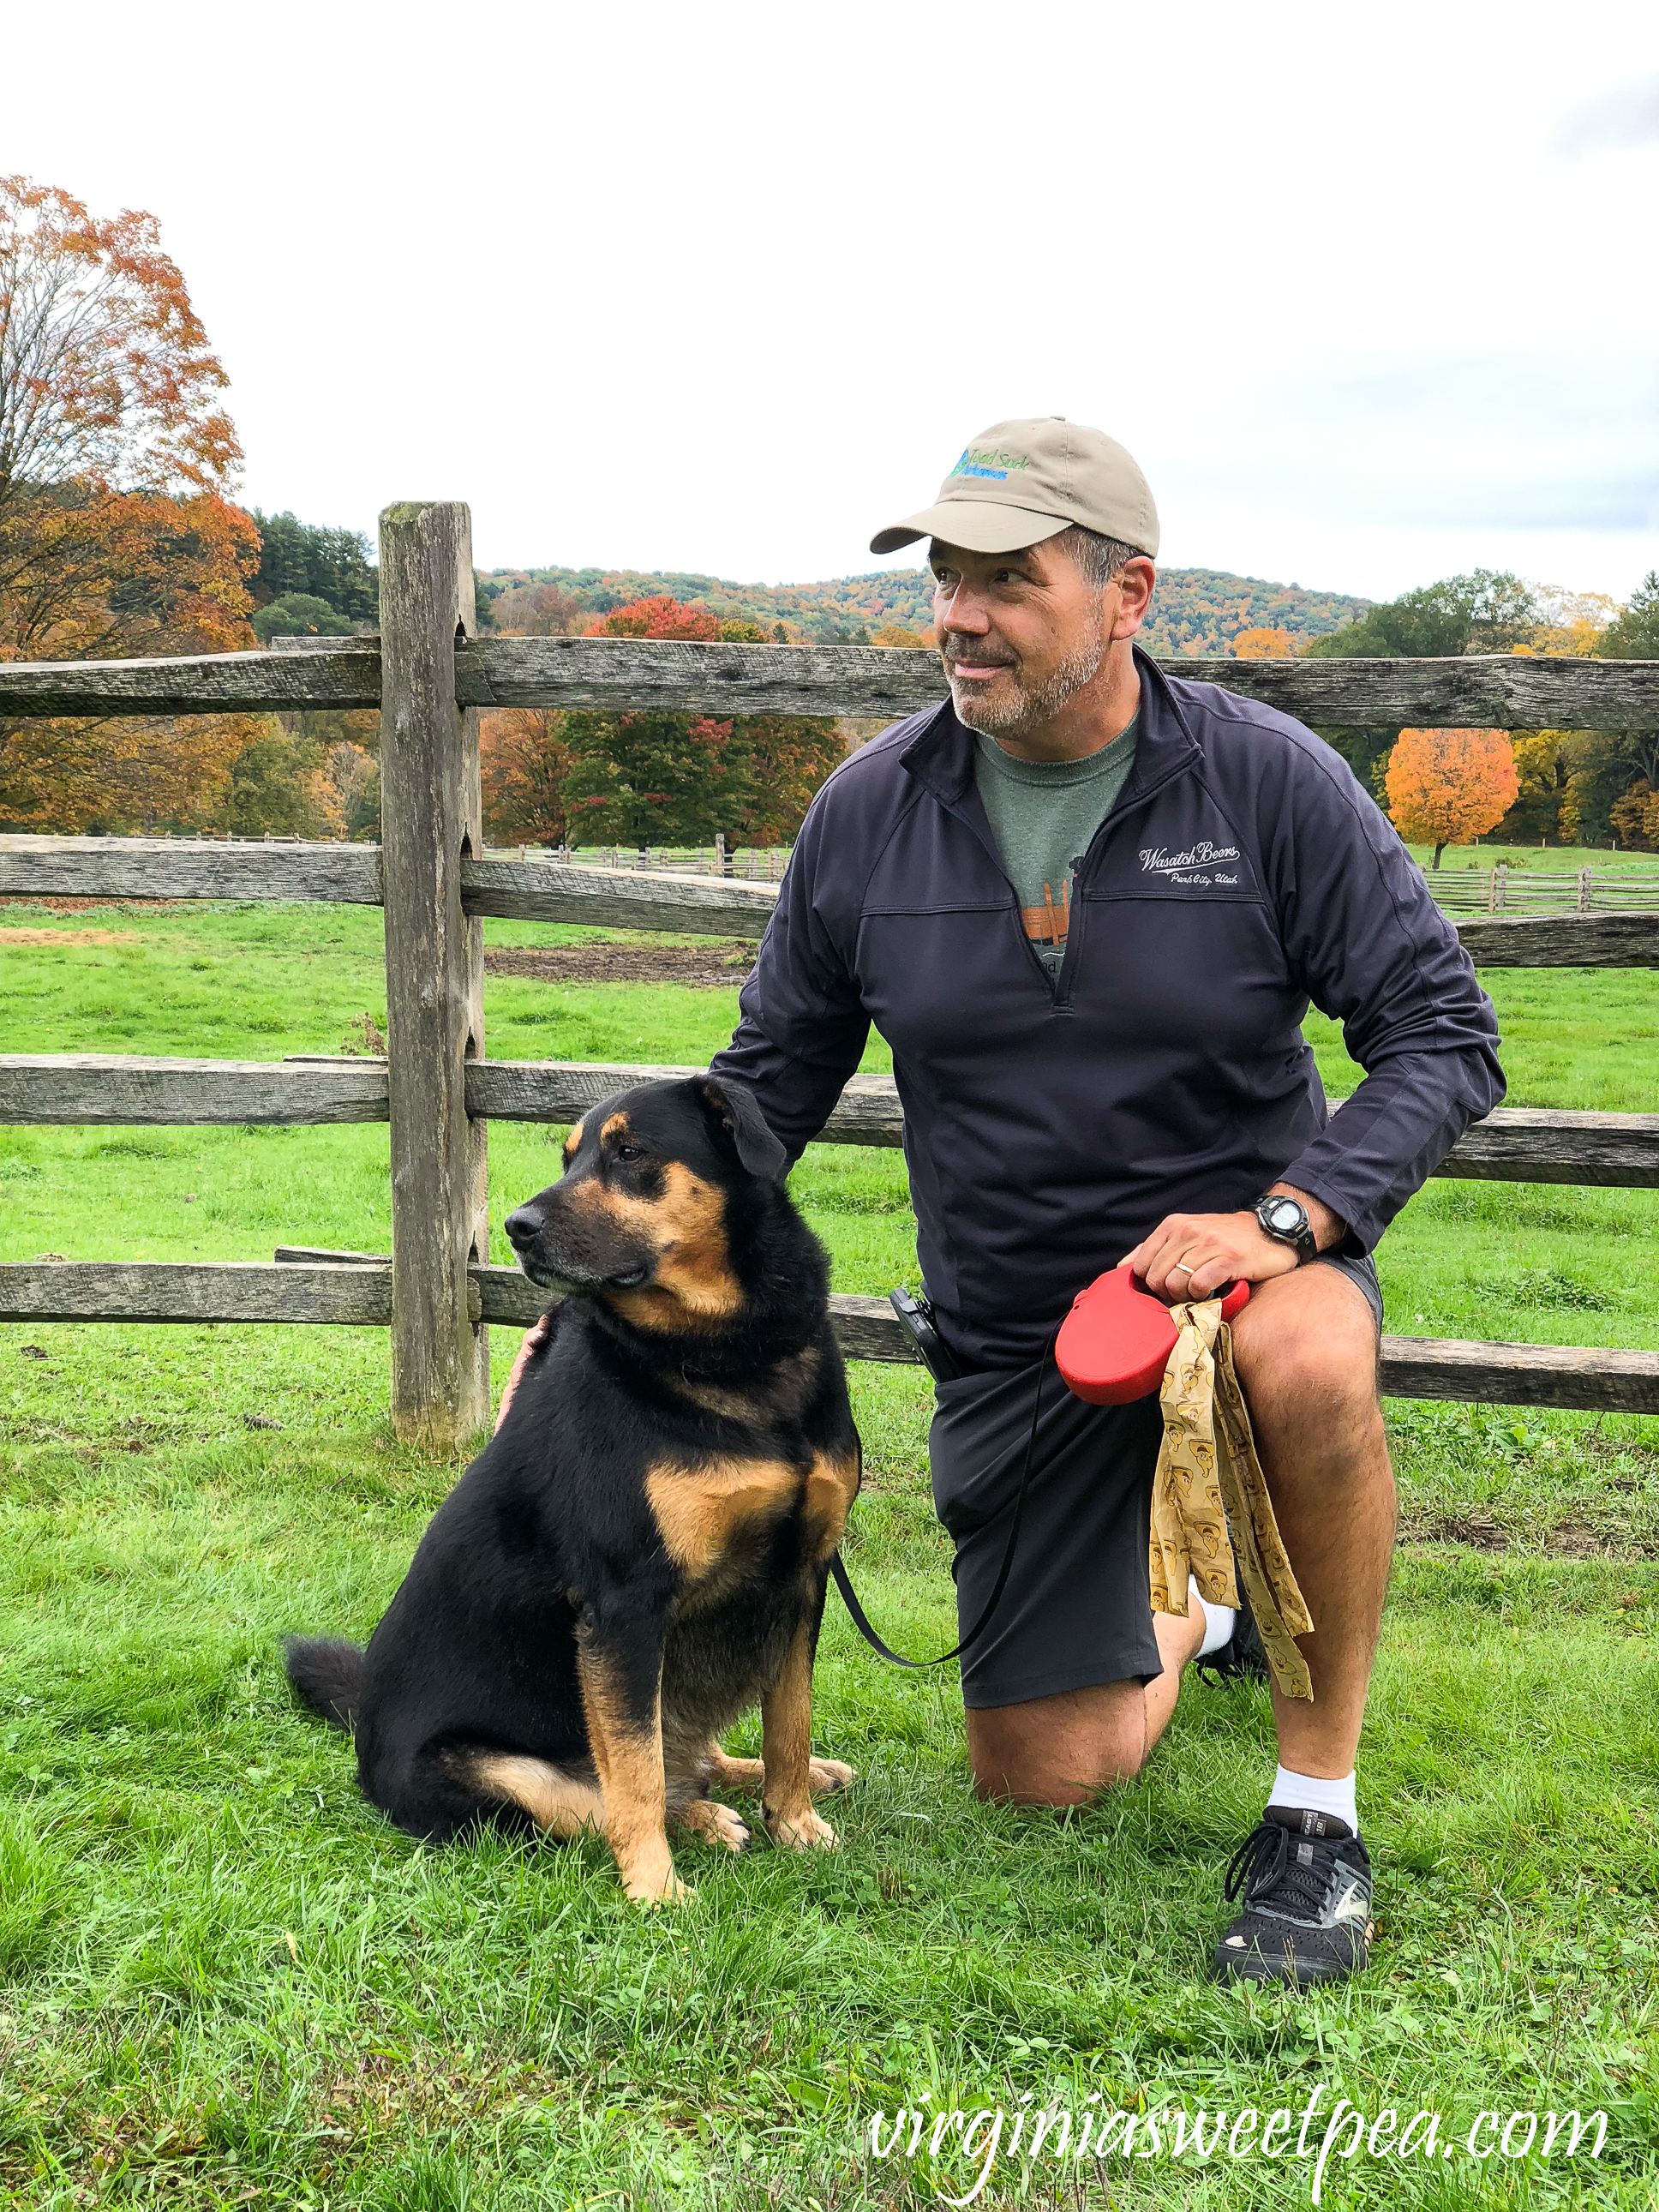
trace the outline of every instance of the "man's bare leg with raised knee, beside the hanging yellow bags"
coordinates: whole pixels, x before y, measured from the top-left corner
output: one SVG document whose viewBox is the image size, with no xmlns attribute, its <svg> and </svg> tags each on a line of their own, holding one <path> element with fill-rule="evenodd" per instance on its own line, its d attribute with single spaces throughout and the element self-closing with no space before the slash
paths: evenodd
<svg viewBox="0 0 1659 2212">
<path fill-rule="evenodd" d="M 1336 1267 L 1256 1283 L 1232 1325 L 1279 1533 L 1314 1632 L 1298 1650 L 1314 1703 L 1274 1688 L 1281 1765 L 1354 1772 L 1383 1593 L 1394 1564 L 1394 1469 L 1376 1400 L 1376 1321 Z"/>
</svg>

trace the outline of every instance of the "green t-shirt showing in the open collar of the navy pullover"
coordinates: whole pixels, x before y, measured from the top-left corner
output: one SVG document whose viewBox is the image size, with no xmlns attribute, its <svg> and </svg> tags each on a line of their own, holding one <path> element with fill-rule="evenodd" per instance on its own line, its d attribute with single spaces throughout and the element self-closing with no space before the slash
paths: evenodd
<svg viewBox="0 0 1659 2212">
<path fill-rule="evenodd" d="M 1082 761 L 1022 761 L 975 730 L 973 781 L 1020 911 L 1051 975 L 1066 958 L 1071 878 L 1135 765 L 1141 717 Z"/>
</svg>

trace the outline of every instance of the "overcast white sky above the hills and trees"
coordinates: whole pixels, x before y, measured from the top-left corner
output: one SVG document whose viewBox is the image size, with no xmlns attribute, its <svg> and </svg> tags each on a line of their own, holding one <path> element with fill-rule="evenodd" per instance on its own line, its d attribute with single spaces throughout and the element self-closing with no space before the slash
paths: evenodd
<svg viewBox="0 0 1659 2212">
<path fill-rule="evenodd" d="M 1659 564 L 1652 0 L 93 0 L 7 80 L 0 161 L 159 217 L 307 522 L 799 582 L 1066 414 L 1175 566 Z"/>
</svg>

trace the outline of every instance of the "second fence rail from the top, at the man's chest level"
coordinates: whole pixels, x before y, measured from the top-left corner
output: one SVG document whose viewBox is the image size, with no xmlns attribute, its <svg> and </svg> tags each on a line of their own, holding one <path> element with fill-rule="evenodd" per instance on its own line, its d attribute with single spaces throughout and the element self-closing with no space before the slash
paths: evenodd
<svg viewBox="0 0 1659 2212">
<path fill-rule="evenodd" d="M 0 898 L 383 900 L 378 845 L 219 845 L 188 838 L 0 834 Z M 564 860 L 462 860 L 469 916 L 759 938 L 774 883 L 575 867 Z M 1659 914 L 1455 918 L 1478 967 L 1659 967 Z"/>
</svg>

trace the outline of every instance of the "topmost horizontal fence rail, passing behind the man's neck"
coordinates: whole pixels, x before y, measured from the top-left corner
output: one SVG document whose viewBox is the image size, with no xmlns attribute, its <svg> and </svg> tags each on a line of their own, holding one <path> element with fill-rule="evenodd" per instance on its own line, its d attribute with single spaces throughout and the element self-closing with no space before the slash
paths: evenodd
<svg viewBox="0 0 1659 2212">
<path fill-rule="evenodd" d="M 212 714 L 380 703 L 378 639 L 146 661 L 9 661 L 0 717 Z M 1418 661 L 1175 657 L 1194 684 L 1327 726 L 1637 730 L 1659 726 L 1659 661 L 1464 655 Z M 714 646 L 644 637 L 480 637 L 456 650 L 460 706 L 688 708 L 714 714 L 911 714 L 945 697 L 933 653 Z"/>
</svg>

